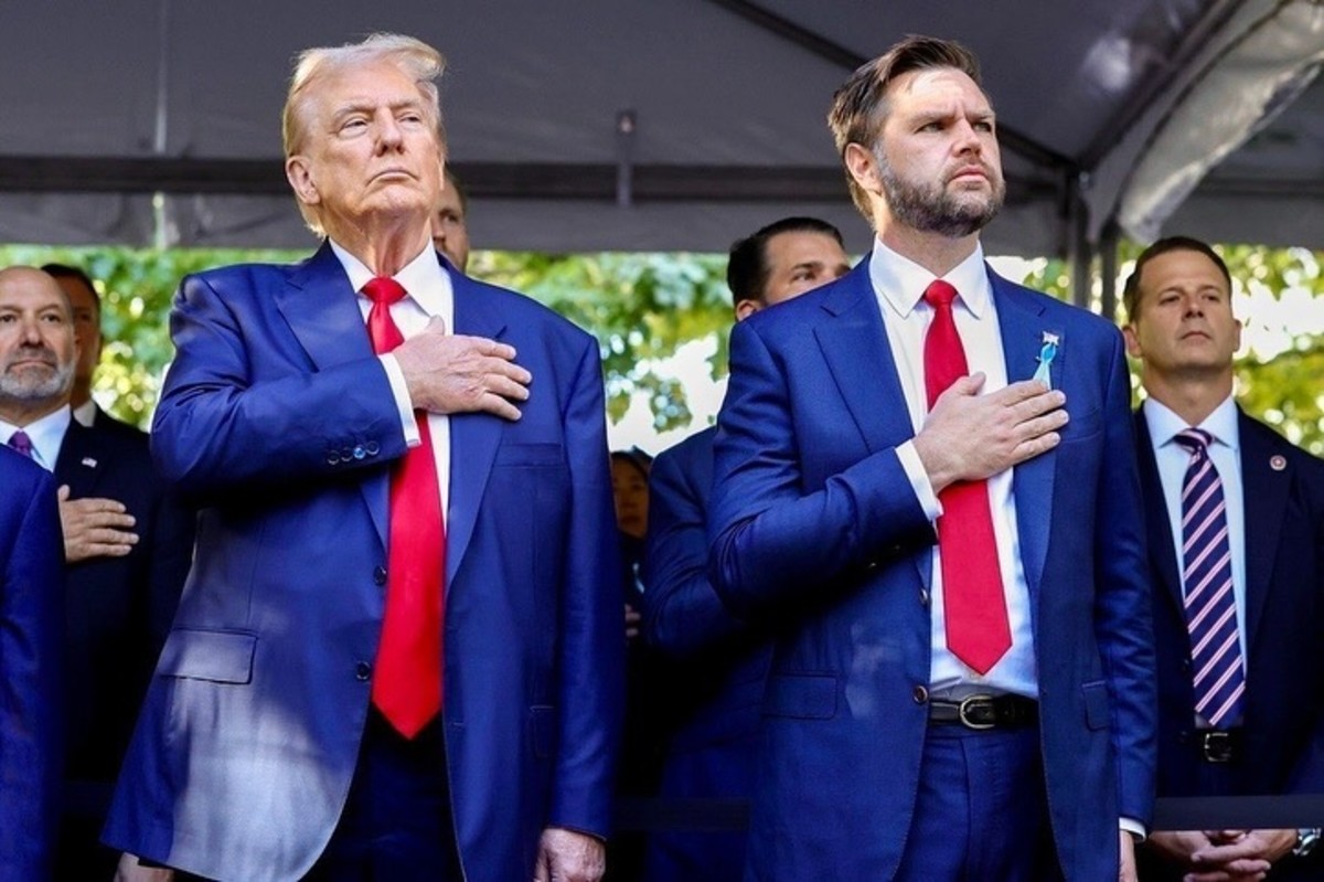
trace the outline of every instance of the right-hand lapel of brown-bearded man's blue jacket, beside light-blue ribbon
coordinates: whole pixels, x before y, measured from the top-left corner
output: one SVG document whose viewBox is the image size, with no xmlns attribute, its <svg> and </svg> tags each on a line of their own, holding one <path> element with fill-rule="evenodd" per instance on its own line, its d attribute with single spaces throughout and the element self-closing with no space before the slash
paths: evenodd
<svg viewBox="0 0 1324 882">
<path fill-rule="evenodd" d="M 997 307 L 1008 384 L 1029 380 L 1034 376 L 1034 371 L 1039 367 L 1043 335 L 1055 334 L 1061 344 L 1058 355 L 1053 360 L 1050 376 L 1053 388 L 1062 388 L 1064 354 L 1068 351 L 1063 328 L 1050 327 L 1045 323 L 1042 303 L 1038 303 L 1027 291 L 1012 285 L 992 270 L 989 270 L 989 282 Z M 1049 552 L 1057 465 L 1057 450 L 1049 450 L 1022 462 L 1012 471 L 1021 564 L 1025 567 L 1025 581 L 1030 589 L 1031 600 L 1038 597 L 1043 562 Z"/>
</svg>

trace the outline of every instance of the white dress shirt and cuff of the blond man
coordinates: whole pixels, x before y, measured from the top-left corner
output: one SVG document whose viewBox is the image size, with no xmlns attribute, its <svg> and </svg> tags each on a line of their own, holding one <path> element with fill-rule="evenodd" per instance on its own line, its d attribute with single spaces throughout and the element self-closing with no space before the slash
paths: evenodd
<svg viewBox="0 0 1324 882">
<path fill-rule="evenodd" d="M 364 324 L 368 322 L 368 313 L 372 310 L 372 301 L 363 293 L 363 286 L 376 278 L 363 261 L 344 250 L 331 240 L 331 250 L 340 260 L 350 285 L 359 293 L 359 311 L 363 314 Z M 437 253 L 429 244 L 418 257 L 409 261 L 395 278 L 405 289 L 408 297 L 391 305 L 391 318 L 395 320 L 400 334 L 408 340 L 422 331 L 432 317 L 440 317 L 446 323 L 446 332 L 453 334 L 455 326 L 455 293 L 450 286 L 450 277 L 441 269 Z M 367 332 L 367 331 L 364 331 Z M 404 373 L 400 364 L 391 354 L 377 356 L 387 369 L 391 380 L 391 392 L 400 411 L 400 425 L 405 433 L 405 442 L 416 448 L 422 442 L 418 434 L 418 424 L 414 420 L 413 401 L 405 387 Z M 432 433 L 432 456 L 437 465 L 437 487 L 441 491 L 441 516 L 448 518 L 448 502 L 450 499 L 450 417 L 445 413 L 429 413 L 428 429 Z"/>
</svg>

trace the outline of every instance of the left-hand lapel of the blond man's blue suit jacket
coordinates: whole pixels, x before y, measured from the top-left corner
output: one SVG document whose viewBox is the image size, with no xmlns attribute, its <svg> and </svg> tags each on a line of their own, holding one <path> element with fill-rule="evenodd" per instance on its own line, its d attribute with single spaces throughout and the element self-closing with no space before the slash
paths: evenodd
<svg viewBox="0 0 1324 882">
<path fill-rule="evenodd" d="M 373 358 L 357 295 L 328 242 L 294 269 L 274 301 L 316 369 Z M 377 536 L 387 547 L 389 471 L 380 470 L 359 482 L 359 487 Z"/>
</svg>

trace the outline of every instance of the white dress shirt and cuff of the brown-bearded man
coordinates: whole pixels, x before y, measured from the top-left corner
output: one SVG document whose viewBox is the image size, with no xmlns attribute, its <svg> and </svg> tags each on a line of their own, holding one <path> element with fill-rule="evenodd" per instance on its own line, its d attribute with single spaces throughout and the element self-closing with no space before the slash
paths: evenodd
<svg viewBox="0 0 1324 882">
<path fill-rule="evenodd" d="M 869 277 L 883 313 L 887 342 L 896 362 L 896 373 L 906 393 L 911 424 L 919 433 L 928 415 L 928 393 L 924 387 L 924 335 L 933 319 L 933 309 L 924 302 L 924 290 L 935 277 L 882 241 L 874 240 L 874 253 L 869 264 Z M 957 291 L 953 302 L 956 330 L 961 335 L 965 360 L 970 373 L 982 371 L 986 376 L 981 393 L 994 392 L 1006 385 L 1006 359 L 993 289 L 984 265 L 984 252 L 976 245 L 974 253 L 943 277 Z M 937 520 L 941 506 L 928 475 L 915 452 L 914 442 L 898 448 L 902 466 L 911 479 L 915 495 L 931 520 Z M 1006 596 L 1008 618 L 1012 628 L 1012 648 L 986 674 L 967 666 L 947 648 L 947 618 L 943 603 L 941 552 L 933 546 L 932 558 L 932 693 L 943 697 L 964 697 L 970 693 L 1014 693 L 1035 698 L 1038 679 L 1034 667 L 1034 632 L 1030 621 L 1030 591 L 1021 564 L 1021 544 L 1016 523 L 1016 498 L 1012 493 L 1012 470 L 1000 471 L 988 481 L 989 506 L 993 515 L 993 536 L 997 540 L 998 567 L 1002 591 Z"/>
</svg>

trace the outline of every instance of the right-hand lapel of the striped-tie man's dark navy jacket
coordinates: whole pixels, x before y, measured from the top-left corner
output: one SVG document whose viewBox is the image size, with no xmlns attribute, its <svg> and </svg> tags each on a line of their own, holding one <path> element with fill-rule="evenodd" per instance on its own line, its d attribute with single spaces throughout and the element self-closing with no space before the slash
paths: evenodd
<svg viewBox="0 0 1324 882">
<path fill-rule="evenodd" d="M 1241 437 L 1242 509 L 1246 514 L 1246 649 L 1255 645 L 1264 601 L 1274 575 L 1274 559 L 1292 483 L 1291 466 L 1275 471 L 1270 466 L 1278 453 L 1271 438 L 1237 411 Z M 1291 462 L 1290 460 L 1287 461 Z"/>
</svg>

